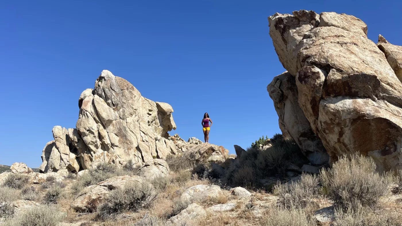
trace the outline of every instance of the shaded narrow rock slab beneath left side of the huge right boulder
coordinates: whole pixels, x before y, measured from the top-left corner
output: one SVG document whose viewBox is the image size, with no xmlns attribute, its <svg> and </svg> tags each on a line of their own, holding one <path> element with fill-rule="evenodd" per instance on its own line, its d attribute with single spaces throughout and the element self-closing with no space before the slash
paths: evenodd
<svg viewBox="0 0 402 226">
<path fill-rule="evenodd" d="M 328 162 L 329 156 L 321 140 L 314 134 L 298 104 L 295 77 L 289 72 L 278 75 L 267 86 L 267 90 L 274 101 L 282 133 L 295 140 L 311 163 L 319 165 Z"/>
</svg>

